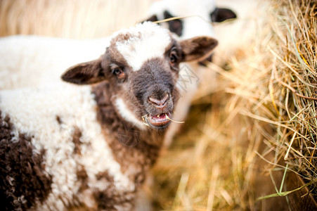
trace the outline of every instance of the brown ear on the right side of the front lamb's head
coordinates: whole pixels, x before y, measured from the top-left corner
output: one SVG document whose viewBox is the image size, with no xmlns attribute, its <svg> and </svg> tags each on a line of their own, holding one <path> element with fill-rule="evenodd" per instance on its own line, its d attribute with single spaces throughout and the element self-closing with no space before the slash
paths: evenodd
<svg viewBox="0 0 317 211">
<path fill-rule="evenodd" d="M 218 41 L 212 37 L 193 37 L 180 42 L 182 49 L 182 62 L 203 60 L 210 56 Z"/>
</svg>

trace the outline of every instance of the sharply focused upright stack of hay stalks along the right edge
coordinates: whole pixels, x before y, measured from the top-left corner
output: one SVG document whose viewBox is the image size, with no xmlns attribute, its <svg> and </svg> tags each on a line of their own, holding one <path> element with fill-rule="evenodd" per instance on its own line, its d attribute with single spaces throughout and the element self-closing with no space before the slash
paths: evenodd
<svg viewBox="0 0 317 211">
<path fill-rule="evenodd" d="M 299 172 L 316 193 L 317 141 L 317 1 L 280 1 L 273 25 L 276 46 L 269 93 L 272 141 L 278 159 Z"/>
</svg>

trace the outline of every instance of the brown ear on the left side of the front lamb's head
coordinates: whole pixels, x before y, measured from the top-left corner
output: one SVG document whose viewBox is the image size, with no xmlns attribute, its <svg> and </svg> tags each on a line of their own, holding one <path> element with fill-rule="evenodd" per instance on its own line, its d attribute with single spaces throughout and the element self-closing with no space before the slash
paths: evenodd
<svg viewBox="0 0 317 211">
<path fill-rule="evenodd" d="M 80 63 L 68 68 L 62 75 L 65 82 L 73 84 L 94 84 L 105 80 L 101 59 Z"/>
</svg>

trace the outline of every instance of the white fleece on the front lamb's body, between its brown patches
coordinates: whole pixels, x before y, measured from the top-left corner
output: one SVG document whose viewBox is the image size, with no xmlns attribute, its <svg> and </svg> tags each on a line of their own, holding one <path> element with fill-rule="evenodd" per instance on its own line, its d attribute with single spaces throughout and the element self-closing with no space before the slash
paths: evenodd
<svg viewBox="0 0 317 211">
<path fill-rule="evenodd" d="M 52 192 L 48 195 L 46 205 L 39 205 L 39 210 L 48 210 L 47 205 L 57 205 L 63 210 L 63 196 L 72 203 L 77 194 L 79 181 L 76 172 L 84 165 L 89 177 L 89 186 L 103 189 L 107 181 L 98 181 L 94 175 L 98 172 L 108 173 L 114 178 L 118 190 L 134 191 L 135 186 L 125 174 L 119 163 L 113 158 L 112 151 L 101 132 L 101 125 L 96 120 L 96 102 L 90 87 L 78 87 L 70 84 L 46 86 L 40 89 L 18 89 L 1 91 L 0 110 L 2 116 L 11 117 L 18 132 L 32 136 L 34 152 L 46 149 L 45 170 L 53 175 Z M 62 124 L 56 118 L 60 117 Z M 75 127 L 82 132 L 82 155 L 73 155 L 72 134 Z M 86 144 L 85 144 L 86 143 Z M 89 199 L 92 193 L 86 191 L 80 198 Z M 86 195 L 84 195 L 86 194 Z"/>
</svg>

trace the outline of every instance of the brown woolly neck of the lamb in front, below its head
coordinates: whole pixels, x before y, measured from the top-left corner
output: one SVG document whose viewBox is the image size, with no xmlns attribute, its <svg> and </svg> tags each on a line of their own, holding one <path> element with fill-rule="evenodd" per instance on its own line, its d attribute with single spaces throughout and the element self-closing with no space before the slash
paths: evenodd
<svg viewBox="0 0 317 211">
<path fill-rule="evenodd" d="M 141 131 L 123 121 L 110 101 L 109 91 L 105 83 L 93 87 L 98 106 L 97 120 L 101 123 L 106 141 L 121 165 L 122 172 L 129 174 L 136 184 L 140 184 L 145 178 L 145 172 L 157 160 L 164 132 L 153 129 Z"/>
</svg>

